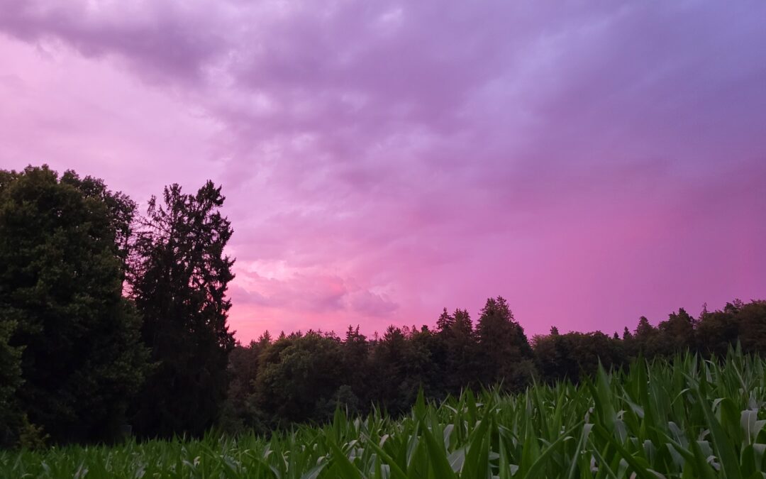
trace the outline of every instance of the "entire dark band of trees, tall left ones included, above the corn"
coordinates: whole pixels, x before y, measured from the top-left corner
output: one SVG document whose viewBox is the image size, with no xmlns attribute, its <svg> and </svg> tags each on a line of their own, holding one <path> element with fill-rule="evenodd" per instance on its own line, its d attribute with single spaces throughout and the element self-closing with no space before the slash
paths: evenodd
<svg viewBox="0 0 766 479">
<path fill-rule="evenodd" d="M 641 318 L 621 338 L 554 328 L 529 340 L 502 297 L 475 323 L 444 310 L 433 329 L 264 333 L 237 345 L 223 203 L 212 182 L 194 194 L 170 185 L 139 214 L 100 179 L 0 170 L 0 446 L 267 432 L 339 405 L 402 412 L 421 387 L 443 398 L 577 382 L 599 360 L 621 367 L 640 353 L 766 350 L 764 301 L 696 319 L 679 310 L 658 327 Z"/>
</svg>

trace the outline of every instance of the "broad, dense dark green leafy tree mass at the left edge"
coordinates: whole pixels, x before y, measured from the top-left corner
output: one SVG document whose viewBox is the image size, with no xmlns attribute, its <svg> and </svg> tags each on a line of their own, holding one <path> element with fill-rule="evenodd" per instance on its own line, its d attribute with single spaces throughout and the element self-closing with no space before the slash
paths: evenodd
<svg viewBox="0 0 766 479">
<path fill-rule="evenodd" d="M 53 441 L 114 437 L 142 382 L 140 320 L 122 297 L 134 209 L 74 172 L 0 172 L 0 401 Z"/>
</svg>

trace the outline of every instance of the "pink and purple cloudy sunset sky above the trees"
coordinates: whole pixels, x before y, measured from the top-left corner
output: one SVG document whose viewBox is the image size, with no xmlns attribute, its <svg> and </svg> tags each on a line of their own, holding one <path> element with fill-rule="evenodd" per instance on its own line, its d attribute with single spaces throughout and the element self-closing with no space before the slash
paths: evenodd
<svg viewBox="0 0 766 479">
<path fill-rule="evenodd" d="M 231 329 L 766 298 L 766 2 L 0 0 L 0 168 L 223 185 Z"/>
</svg>

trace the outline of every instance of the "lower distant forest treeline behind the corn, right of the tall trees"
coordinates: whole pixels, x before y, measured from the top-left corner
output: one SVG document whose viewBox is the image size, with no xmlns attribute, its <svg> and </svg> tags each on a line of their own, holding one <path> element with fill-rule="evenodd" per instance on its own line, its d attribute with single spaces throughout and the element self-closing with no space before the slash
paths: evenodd
<svg viewBox="0 0 766 479">
<path fill-rule="evenodd" d="M 658 326 L 641 317 L 622 336 L 558 333 L 528 340 L 502 297 L 489 298 L 474 324 L 466 310 L 445 309 L 436 327 L 389 326 L 371 338 L 358 327 L 340 337 L 309 331 L 237 345 L 231 353 L 231 384 L 221 426 L 230 431 L 268 431 L 291 422 L 321 422 L 336 406 L 367 412 L 373 405 L 398 413 L 419 388 L 431 398 L 463 388 L 501 384 L 511 391 L 532 381 L 578 382 L 605 367 L 692 350 L 725 355 L 741 343 L 748 353 L 766 352 L 766 301 L 735 300 L 723 310 L 706 308 L 694 318 L 680 309 Z"/>
</svg>

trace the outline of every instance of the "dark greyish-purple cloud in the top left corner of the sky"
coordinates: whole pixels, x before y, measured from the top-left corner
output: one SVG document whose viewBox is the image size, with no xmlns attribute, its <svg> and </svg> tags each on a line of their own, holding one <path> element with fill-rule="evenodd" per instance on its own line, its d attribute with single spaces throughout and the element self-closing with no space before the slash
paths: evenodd
<svg viewBox="0 0 766 479">
<path fill-rule="evenodd" d="M 25 41 L 55 38 L 88 57 L 117 54 L 140 74 L 182 81 L 199 77 L 225 48 L 217 15 L 192 3 L 2 0 L 0 28 Z"/>
</svg>

